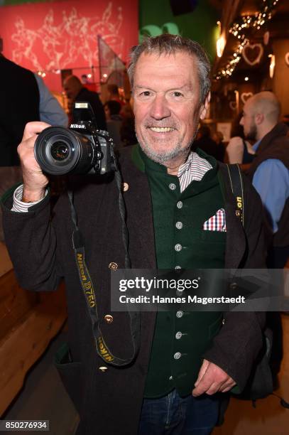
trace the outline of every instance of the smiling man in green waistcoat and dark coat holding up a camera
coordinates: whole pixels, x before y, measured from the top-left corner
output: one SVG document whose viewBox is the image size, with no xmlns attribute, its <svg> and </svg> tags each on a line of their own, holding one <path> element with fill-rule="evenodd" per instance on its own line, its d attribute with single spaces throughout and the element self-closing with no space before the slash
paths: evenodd
<svg viewBox="0 0 289 435">
<path fill-rule="evenodd" d="M 220 170 L 200 150 L 190 153 L 209 104 L 209 61 L 200 45 L 180 36 L 148 38 L 132 50 L 129 76 L 140 146 L 121 151 L 119 164 L 131 267 L 263 267 L 261 202 L 255 190 L 244 179 L 243 228 L 226 168 Z M 26 127 L 18 149 L 24 183 L 4 198 L 4 222 L 22 286 L 55 289 L 65 276 L 70 352 L 62 353 L 58 369 L 80 412 L 77 433 L 144 435 L 170 429 L 171 434 L 210 434 L 218 418 L 218 394 L 246 385 L 261 348 L 263 316 L 141 313 L 136 358 L 121 368 L 104 363 L 75 267 L 67 198 L 60 198 L 51 225 L 48 179 L 31 157 L 36 132 L 44 127 Z M 110 270 L 125 264 L 119 194 L 109 178 L 79 183 L 74 203 L 97 285 L 99 326 L 114 355 L 127 359 L 133 353 L 130 317 L 111 313 L 109 297 Z M 11 211 L 20 205 L 28 213 Z M 209 230 L 216 214 L 219 223 Z M 27 240 L 37 252 L 26 249 Z"/>
</svg>

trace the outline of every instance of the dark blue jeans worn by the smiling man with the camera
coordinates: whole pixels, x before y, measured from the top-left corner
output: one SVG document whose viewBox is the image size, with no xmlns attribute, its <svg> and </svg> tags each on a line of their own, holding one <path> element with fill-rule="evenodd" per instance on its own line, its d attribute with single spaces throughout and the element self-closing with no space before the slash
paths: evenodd
<svg viewBox="0 0 289 435">
<path fill-rule="evenodd" d="M 138 435 L 209 435 L 219 417 L 219 396 L 180 397 L 173 390 L 143 399 Z"/>
</svg>

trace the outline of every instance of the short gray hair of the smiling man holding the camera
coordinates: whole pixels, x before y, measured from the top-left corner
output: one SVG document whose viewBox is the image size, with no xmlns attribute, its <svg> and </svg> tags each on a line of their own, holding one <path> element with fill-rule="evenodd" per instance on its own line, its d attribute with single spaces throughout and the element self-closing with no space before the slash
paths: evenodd
<svg viewBox="0 0 289 435">
<path fill-rule="evenodd" d="M 136 70 L 136 63 L 142 53 L 170 55 L 178 52 L 188 53 L 197 58 L 200 80 L 200 102 L 205 102 L 211 86 L 211 65 L 205 50 L 196 41 L 191 41 L 188 38 L 182 38 L 182 36 L 178 35 L 170 35 L 169 33 L 154 38 L 146 38 L 141 44 L 131 48 L 130 63 L 127 69 L 131 87 L 133 88 L 133 76 Z"/>
</svg>

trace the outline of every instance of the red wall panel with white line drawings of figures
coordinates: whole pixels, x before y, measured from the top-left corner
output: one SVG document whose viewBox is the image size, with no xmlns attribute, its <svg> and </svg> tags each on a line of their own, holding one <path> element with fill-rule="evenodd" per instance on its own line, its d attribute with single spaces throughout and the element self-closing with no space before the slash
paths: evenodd
<svg viewBox="0 0 289 435">
<path fill-rule="evenodd" d="M 49 70 L 45 81 L 50 89 L 59 91 L 57 70 L 98 65 L 97 35 L 127 60 L 129 48 L 138 43 L 138 1 L 3 6 L 0 29 L 4 55 L 30 70 Z"/>
</svg>

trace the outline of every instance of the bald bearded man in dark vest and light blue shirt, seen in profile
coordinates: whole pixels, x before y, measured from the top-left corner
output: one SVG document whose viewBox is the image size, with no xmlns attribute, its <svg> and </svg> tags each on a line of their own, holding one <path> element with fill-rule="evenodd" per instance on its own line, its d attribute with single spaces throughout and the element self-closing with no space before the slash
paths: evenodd
<svg viewBox="0 0 289 435">
<path fill-rule="evenodd" d="M 244 105 L 240 124 L 246 139 L 256 141 L 249 176 L 261 196 L 273 235 L 268 267 L 283 269 L 289 258 L 289 129 L 278 123 L 279 117 L 276 95 L 259 92 Z"/>
</svg>

